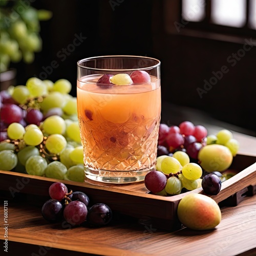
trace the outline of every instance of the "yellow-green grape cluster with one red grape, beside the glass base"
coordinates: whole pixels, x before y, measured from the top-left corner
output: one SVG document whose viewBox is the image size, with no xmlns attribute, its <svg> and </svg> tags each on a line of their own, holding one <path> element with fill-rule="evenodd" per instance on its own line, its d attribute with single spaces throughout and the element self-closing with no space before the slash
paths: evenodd
<svg viewBox="0 0 256 256">
<path fill-rule="evenodd" d="M 202 168 L 183 151 L 157 157 L 156 170 L 145 176 L 145 187 L 156 195 L 178 195 L 201 187 Z"/>
</svg>

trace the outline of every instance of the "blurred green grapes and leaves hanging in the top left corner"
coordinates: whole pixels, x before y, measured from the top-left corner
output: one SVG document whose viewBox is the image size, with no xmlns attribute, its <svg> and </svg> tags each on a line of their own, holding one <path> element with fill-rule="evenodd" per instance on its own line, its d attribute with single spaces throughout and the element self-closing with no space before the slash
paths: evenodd
<svg viewBox="0 0 256 256">
<path fill-rule="evenodd" d="M 10 62 L 26 63 L 41 51 L 40 21 L 51 18 L 47 10 L 36 10 L 30 1 L 0 1 L 0 72 L 8 70 Z"/>
</svg>

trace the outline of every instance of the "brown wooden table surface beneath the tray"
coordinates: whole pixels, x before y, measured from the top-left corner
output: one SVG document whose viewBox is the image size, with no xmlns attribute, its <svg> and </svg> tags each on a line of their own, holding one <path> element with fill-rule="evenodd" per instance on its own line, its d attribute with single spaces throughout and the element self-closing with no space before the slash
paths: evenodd
<svg viewBox="0 0 256 256">
<path fill-rule="evenodd" d="M 211 126 L 209 130 L 215 133 L 215 129 Z M 256 156 L 256 138 L 233 134 L 240 142 L 241 154 Z M 5 191 L 0 192 L 0 197 L 8 200 L 9 255 L 256 255 L 256 196 L 245 197 L 237 206 L 221 208 L 222 220 L 214 230 L 183 228 L 170 232 L 122 215 L 101 228 L 52 224 L 41 217 L 40 198 L 22 195 L 14 200 L 6 198 Z"/>
</svg>

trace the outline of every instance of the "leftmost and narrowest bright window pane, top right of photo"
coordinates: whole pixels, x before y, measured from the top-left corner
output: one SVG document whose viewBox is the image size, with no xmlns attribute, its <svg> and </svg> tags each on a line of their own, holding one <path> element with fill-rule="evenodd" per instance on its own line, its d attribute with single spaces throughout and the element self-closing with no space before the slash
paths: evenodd
<svg viewBox="0 0 256 256">
<path fill-rule="evenodd" d="M 190 22 L 200 22 L 204 16 L 205 3 L 201 0 L 182 0 L 182 18 Z"/>
</svg>

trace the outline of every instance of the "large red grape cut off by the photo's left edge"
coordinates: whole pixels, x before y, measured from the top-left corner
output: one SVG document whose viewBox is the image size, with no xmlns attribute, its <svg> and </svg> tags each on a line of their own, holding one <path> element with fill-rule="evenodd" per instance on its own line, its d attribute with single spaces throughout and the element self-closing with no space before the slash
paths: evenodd
<svg viewBox="0 0 256 256">
<path fill-rule="evenodd" d="M 4 104 L 1 108 L 1 120 L 7 124 L 18 123 L 23 118 L 22 109 L 15 104 Z"/>
</svg>

